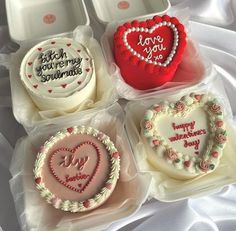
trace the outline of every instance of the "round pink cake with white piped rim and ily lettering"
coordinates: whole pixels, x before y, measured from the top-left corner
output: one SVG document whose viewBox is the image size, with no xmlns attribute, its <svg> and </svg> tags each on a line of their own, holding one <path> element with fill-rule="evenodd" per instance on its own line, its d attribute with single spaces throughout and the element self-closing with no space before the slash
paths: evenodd
<svg viewBox="0 0 236 231">
<path fill-rule="evenodd" d="M 42 197 L 55 208 L 89 211 L 112 194 L 120 171 L 120 155 L 104 133 L 91 127 L 71 127 L 52 136 L 40 148 L 34 166 Z"/>
</svg>

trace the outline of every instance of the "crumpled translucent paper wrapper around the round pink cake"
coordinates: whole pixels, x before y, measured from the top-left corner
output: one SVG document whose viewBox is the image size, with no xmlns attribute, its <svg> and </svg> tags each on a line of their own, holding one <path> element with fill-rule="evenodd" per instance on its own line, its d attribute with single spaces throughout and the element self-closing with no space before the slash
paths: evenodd
<svg viewBox="0 0 236 231">
<path fill-rule="evenodd" d="M 124 131 L 124 114 L 118 104 L 86 116 L 71 116 L 69 121 L 42 126 L 16 145 L 10 167 L 13 175 L 10 186 L 23 230 L 101 230 L 133 214 L 148 196 L 151 176 L 137 172 Z M 121 153 L 120 178 L 108 201 L 91 212 L 75 214 L 57 210 L 41 198 L 33 175 L 39 147 L 63 126 L 73 125 L 89 125 L 104 132 Z"/>
</svg>

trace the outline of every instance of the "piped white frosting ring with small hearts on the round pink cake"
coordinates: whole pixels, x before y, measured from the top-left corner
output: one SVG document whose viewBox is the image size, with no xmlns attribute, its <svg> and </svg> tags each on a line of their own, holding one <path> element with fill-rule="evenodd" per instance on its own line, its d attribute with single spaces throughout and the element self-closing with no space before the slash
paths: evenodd
<svg viewBox="0 0 236 231">
<path fill-rule="evenodd" d="M 33 172 L 35 181 L 37 181 L 37 179 L 42 179 L 42 168 L 45 164 L 45 158 L 51 147 L 53 147 L 58 141 L 70 135 L 87 134 L 97 138 L 100 142 L 102 142 L 110 154 L 111 171 L 107 181 L 104 184 L 105 186 L 100 190 L 99 193 L 94 195 L 93 198 L 85 201 L 61 200 L 60 198 L 56 197 L 48 188 L 46 188 L 42 181 L 38 183 L 36 182 L 36 187 L 40 191 L 41 196 L 45 198 L 49 204 L 52 204 L 56 209 L 70 211 L 73 213 L 89 211 L 100 206 L 112 194 L 117 180 L 119 179 L 120 156 L 118 155 L 118 151 L 110 138 L 97 129 L 85 126 L 74 126 L 69 129 L 71 129 L 72 132 L 69 132 L 68 129 L 59 131 L 55 136 L 51 136 L 51 138 L 42 146 L 41 151 L 37 154 L 34 164 Z M 106 185 L 109 185 L 109 188 L 106 187 Z"/>
</svg>

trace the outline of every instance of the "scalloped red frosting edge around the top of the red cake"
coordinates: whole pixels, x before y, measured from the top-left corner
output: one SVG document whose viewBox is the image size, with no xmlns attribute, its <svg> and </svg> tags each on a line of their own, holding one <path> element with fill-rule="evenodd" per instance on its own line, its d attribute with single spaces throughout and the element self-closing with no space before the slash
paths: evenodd
<svg viewBox="0 0 236 231">
<path fill-rule="evenodd" d="M 174 45 L 175 49 L 172 49 L 172 53 L 169 55 L 169 59 L 167 59 L 164 64 L 149 62 L 149 60 L 140 59 L 137 54 L 134 54 L 133 51 L 128 49 L 127 44 L 125 43 L 125 36 L 128 31 L 132 32 L 132 30 L 140 27 L 140 31 L 152 30 L 154 28 L 158 28 L 161 26 L 168 26 L 174 32 Z M 148 28 L 145 28 L 148 27 Z M 143 29 L 143 30 L 141 30 Z M 115 35 L 115 47 L 122 55 L 122 57 L 129 61 L 133 65 L 137 65 L 138 67 L 148 71 L 149 73 L 158 73 L 160 71 L 168 73 L 172 70 L 173 67 L 176 67 L 183 56 L 183 50 L 186 46 L 186 32 L 183 24 L 179 22 L 176 17 L 170 17 L 168 15 L 164 16 L 154 16 L 152 19 L 148 19 L 146 21 L 138 21 L 134 20 L 132 22 L 126 22 L 122 26 L 119 26 Z M 134 58 L 135 57 L 135 58 Z"/>
</svg>

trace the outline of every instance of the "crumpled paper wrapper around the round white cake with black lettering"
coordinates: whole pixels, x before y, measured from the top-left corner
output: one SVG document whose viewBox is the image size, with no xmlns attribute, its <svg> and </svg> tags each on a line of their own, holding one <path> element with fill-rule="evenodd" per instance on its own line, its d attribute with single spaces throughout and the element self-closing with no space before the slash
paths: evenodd
<svg viewBox="0 0 236 231">
<path fill-rule="evenodd" d="M 99 107 L 105 107 L 106 105 L 117 101 L 117 93 L 107 72 L 101 47 L 93 38 L 91 28 L 89 26 L 77 27 L 73 32 L 73 38 L 90 50 L 94 58 L 97 79 L 95 100 L 84 100 L 82 104 L 78 105 L 73 113 L 78 113 L 88 109 L 92 110 Z M 18 122 L 21 123 L 27 131 L 30 131 L 32 127 L 35 127 L 44 121 L 50 121 L 55 118 L 65 117 L 68 115 L 68 113 L 63 111 L 63 109 L 47 111 L 39 110 L 21 83 L 19 76 L 21 61 L 27 51 L 38 42 L 39 41 L 32 40 L 26 45 L 21 45 L 20 49 L 11 56 L 12 65 L 10 67 L 10 80 L 13 113 Z"/>
</svg>

